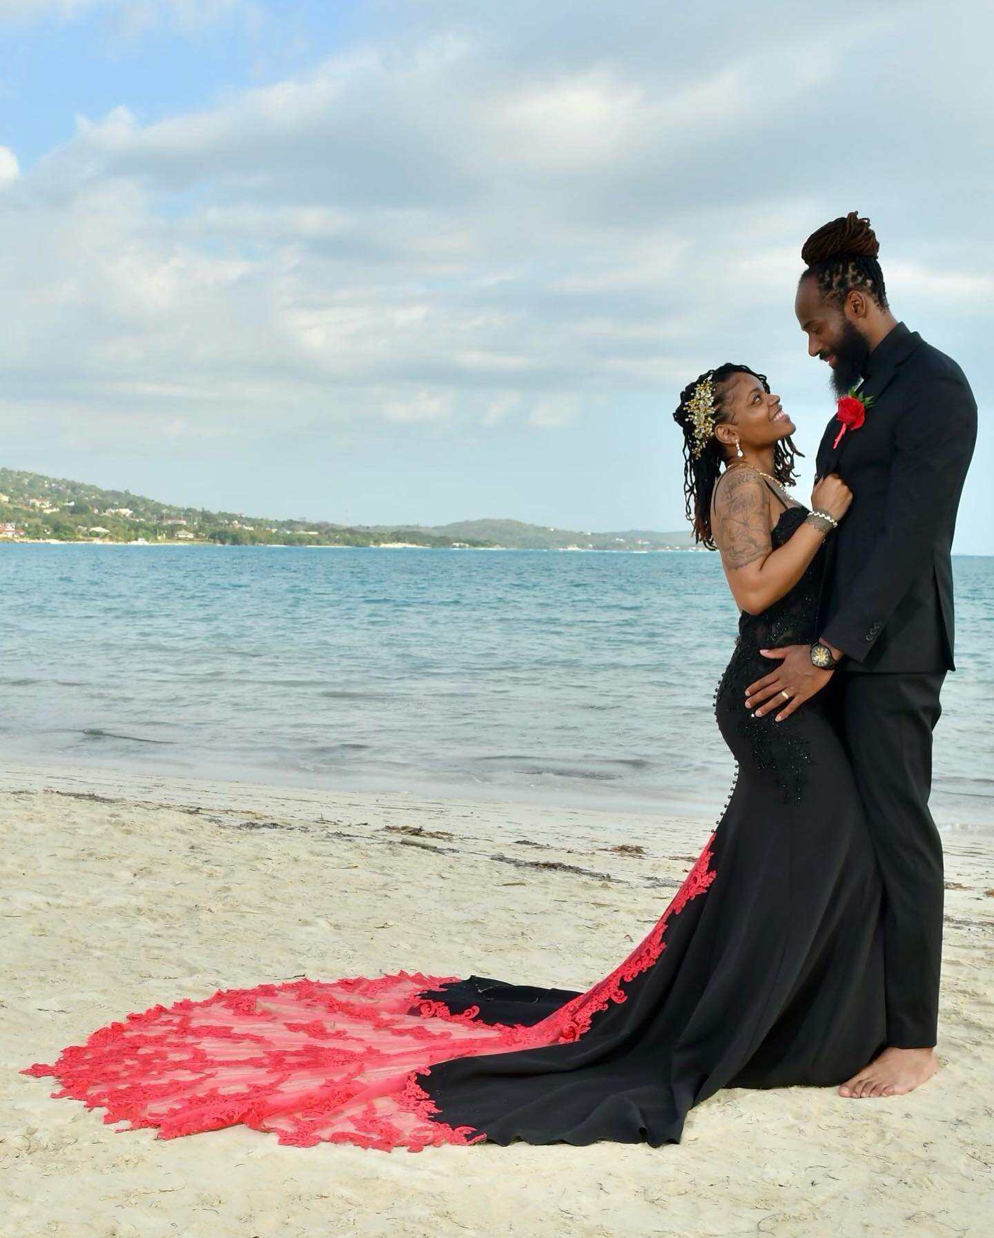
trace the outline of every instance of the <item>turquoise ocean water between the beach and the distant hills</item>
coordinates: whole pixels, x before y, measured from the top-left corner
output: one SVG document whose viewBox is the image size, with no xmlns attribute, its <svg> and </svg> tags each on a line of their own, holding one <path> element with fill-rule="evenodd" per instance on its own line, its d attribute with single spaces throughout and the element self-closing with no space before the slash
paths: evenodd
<svg viewBox="0 0 994 1238">
<path fill-rule="evenodd" d="M 936 817 L 994 829 L 994 558 L 954 560 Z M 0 546 L 9 759 L 715 813 L 715 555 Z"/>
</svg>

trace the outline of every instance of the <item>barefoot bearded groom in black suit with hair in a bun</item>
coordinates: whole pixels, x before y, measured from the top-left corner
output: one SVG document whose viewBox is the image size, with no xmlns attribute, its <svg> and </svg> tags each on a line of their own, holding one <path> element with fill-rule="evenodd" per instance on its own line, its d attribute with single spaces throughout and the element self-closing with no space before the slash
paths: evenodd
<svg viewBox="0 0 994 1238">
<path fill-rule="evenodd" d="M 899 1096 L 936 1071 L 943 881 L 928 811 L 932 730 L 954 669 L 949 551 L 977 438 L 963 371 L 890 312 L 878 251 L 855 212 L 801 251 L 795 312 L 808 354 L 832 368 L 837 395 L 854 391 L 822 437 L 817 472 L 841 474 L 854 500 L 829 539 L 821 639 L 764 650 L 780 665 L 745 702 L 758 714 L 777 709 L 780 721 L 838 669 L 886 891 L 888 1047 L 842 1086 L 850 1097 Z"/>
</svg>

